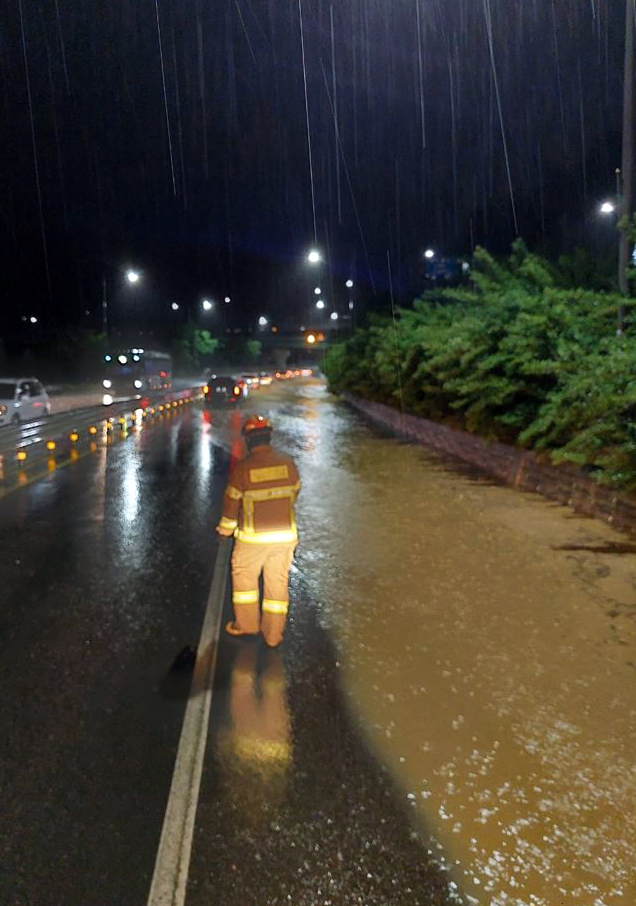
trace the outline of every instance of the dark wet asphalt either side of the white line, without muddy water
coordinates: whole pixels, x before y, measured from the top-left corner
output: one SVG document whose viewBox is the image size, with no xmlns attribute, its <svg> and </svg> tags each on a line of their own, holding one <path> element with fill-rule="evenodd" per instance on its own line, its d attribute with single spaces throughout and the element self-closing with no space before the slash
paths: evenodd
<svg viewBox="0 0 636 906">
<path fill-rule="evenodd" d="M 227 472 L 213 436 L 192 409 L 0 499 L 2 906 L 146 901 L 189 682 L 169 666 L 198 639 Z M 298 571 L 294 601 L 282 649 L 222 641 L 188 906 L 446 902 Z"/>
</svg>

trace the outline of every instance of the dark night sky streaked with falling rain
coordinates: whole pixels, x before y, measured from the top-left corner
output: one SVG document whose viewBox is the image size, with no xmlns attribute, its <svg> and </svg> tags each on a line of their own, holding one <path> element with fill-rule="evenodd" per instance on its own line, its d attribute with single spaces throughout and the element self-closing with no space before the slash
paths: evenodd
<svg viewBox="0 0 636 906">
<path fill-rule="evenodd" d="M 427 246 L 593 243 L 623 7 L 302 0 L 314 218 L 298 0 L 2 0 L 4 334 L 98 327 L 103 268 L 123 306 L 128 265 L 155 319 L 227 294 L 236 323 L 302 321 L 314 220 L 342 304 L 349 276 L 386 291 L 387 257 L 410 298 Z"/>
</svg>

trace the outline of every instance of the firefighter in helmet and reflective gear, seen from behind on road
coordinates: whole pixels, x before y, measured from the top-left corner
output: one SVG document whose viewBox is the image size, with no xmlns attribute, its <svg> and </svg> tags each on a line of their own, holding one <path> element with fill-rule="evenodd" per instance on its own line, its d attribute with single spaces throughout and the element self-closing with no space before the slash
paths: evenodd
<svg viewBox="0 0 636 906">
<path fill-rule="evenodd" d="M 300 480 L 294 460 L 270 446 L 272 428 L 260 415 L 248 418 L 245 459 L 232 470 L 223 498 L 220 535 L 234 535 L 232 636 L 263 633 L 276 648 L 283 640 L 289 607 L 289 569 L 298 544 L 294 504 Z M 262 613 L 259 578 L 263 575 Z"/>
</svg>

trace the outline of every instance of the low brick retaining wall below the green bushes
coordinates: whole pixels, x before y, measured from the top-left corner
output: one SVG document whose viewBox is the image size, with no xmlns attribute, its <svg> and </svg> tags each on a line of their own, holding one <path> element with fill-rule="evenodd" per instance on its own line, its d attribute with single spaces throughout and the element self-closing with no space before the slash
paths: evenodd
<svg viewBox="0 0 636 906">
<path fill-rule="evenodd" d="M 351 393 L 344 393 L 343 399 L 396 434 L 469 462 L 513 488 L 536 491 L 578 513 L 597 516 L 636 534 L 636 499 L 617 494 L 581 472 L 541 462 L 529 450 L 487 441 L 476 434 L 447 428 L 425 418 L 403 415 L 390 406 L 372 403 Z"/>
</svg>

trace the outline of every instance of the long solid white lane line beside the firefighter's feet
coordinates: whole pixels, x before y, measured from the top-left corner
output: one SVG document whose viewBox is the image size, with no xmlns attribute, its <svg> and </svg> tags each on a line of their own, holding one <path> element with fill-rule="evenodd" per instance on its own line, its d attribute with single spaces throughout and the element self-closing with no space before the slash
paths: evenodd
<svg viewBox="0 0 636 906">
<path fill-rule="evenodd" d="M 219 541 L 147 906 L 185 903 L 230 548 Z"/>
</svg>

